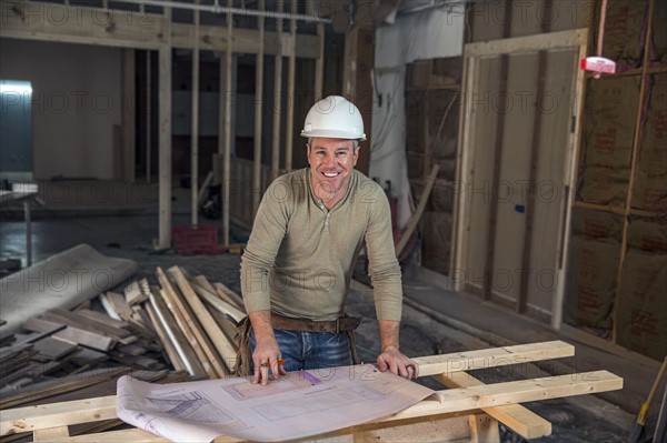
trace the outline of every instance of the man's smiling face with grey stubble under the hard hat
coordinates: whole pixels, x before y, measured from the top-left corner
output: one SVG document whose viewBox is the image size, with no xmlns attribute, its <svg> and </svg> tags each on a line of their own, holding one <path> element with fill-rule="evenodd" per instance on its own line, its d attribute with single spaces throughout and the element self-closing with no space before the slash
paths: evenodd
<svg viewBox="0 0 667 443">
<path fill-rule="evenodd" d="M 308 164 L 316 195 L 325 200 L 339 195 L 346 189 L 357 159 L 359 148 L 352 140 L 312 139 L 308 145 Z"/>
</svg>

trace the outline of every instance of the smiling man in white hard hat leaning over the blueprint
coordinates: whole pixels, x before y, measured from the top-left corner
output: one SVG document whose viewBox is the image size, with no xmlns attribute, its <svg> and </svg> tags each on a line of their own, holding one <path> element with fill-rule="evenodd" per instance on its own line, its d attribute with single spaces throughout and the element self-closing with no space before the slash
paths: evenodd
<svg viewBox="0 0 667 443">
<path fill-rule="evenodd" d="M 399 351 L 402 289 L 382 189 L 355 170 L 366 140 L 357 107 L 331 95 L 308 112 L 308 169 L 276 179 L 259 207 L 241 260 L 252 326 L 253 383 L 287 371 L 354 362 L 356 319 L 344 305 L 366 241 L 380 329 L 380 371 L 412 379 Z"/>
</svg>

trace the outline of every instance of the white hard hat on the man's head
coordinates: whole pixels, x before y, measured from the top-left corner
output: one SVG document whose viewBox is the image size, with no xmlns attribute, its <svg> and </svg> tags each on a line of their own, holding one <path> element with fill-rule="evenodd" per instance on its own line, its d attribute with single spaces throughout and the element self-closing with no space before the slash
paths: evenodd
<svg viewBox="0 0 667 443">
<path fill-rule="evenodd" d="M 310 108 L 301 137 L 366 140 L 359 109 L 340 95 L 329 95 Z"/>
</svg>

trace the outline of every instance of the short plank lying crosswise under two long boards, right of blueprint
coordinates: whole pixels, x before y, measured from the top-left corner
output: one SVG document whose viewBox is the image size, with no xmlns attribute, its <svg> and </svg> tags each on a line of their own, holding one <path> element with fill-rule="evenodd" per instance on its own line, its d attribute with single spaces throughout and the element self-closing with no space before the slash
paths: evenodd
<svg viewBox="0 0 667 443">
<path fill-rule="evenodd" d="M 472 387 L 484 383 L 466 372 L 434 375 L 447 387 Z M 551 423 L 519 404 L 482 407 L 482 411 L 511 429 L 524 439 L 538 439 L 551 434 Z"/>
</svg>

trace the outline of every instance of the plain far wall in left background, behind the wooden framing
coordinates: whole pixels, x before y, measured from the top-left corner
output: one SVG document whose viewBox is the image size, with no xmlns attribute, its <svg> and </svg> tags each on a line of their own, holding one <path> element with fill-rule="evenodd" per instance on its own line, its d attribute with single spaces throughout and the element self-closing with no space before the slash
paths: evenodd
<svg viewBox="0 0 667 443">
<path fill-rule="evenodd" d="M 113 167 L 120 73 L 117 48 L 0 39 L 0 78 L 32 82 L 36 180 L 122 173 Z"/>
</svg>

